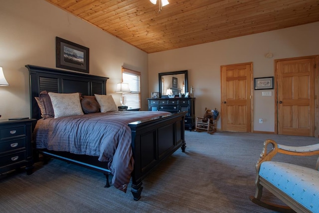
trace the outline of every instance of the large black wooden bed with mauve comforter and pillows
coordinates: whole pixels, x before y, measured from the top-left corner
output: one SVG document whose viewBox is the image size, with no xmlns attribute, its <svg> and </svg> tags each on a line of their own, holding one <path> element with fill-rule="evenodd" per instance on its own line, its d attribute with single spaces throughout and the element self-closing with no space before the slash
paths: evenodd
<svg viewBox="0 0 319 213">
<path fill-rule="evenodd" d="M 103 101 L 110 97 L 115 105 L 112 96 L 106 95 L 108 78 L 25 66 L 29 70 L 31 117 L 38 120 L 33 141 L 36 153 L 45 158 L 53 157 L 102 172 L 107 177 L 106 187 L 110 186 L 108 176 L 111 174 L 112 184 L 123 192 L 127 191 L 132 178 L 131 192 L 138 201 L 146 175 L 178 148 L 185 152 L 184 112 L 105 110 Z M 51 98 L 54 108 L 51 117 L 43 113 L 45 107 L 43 101 L 39 101 L 43 95 Z M 72 114 L 77 108 L 72 102 L 72 107 L 59 112 L 60 102 L 56 100 L 60 100 L 60 96 L 61 100 L 70 102 L 75 97 L 80 108 L 84 100 L 93 98 L 101 110 L 86 113 L 82 105 L 80 113 Z M 70 108 L 71 114 L 63 115 Z M 58 116 L 58 113 L 62 114 Z"/>
</svg>

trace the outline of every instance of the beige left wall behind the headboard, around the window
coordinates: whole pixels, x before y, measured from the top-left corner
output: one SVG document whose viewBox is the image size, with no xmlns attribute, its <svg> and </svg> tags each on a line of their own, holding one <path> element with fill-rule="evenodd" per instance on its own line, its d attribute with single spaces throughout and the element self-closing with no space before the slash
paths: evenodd
<svg viewBox="0 0 319 213">
<path fill-rule="evenodd" d="M 107 93 L 120 105 L 121 66 L 142 72 L 142 107 L 147 110 L 148 54 L 44 0 L 1 0 L 0 66 L 7 87 L 0 87 L 2 118 L 30 116 L 28 70 L 55 68 L 55 37 L 90 48 L 90 74 L 109 77 Z"/>
</svg>

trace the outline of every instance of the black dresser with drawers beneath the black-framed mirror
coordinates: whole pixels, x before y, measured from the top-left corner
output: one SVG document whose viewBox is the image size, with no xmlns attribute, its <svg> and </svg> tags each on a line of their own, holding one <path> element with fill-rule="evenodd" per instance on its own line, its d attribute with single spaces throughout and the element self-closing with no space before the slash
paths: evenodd
<svg viewBox="0 0 319 213">
<path fill-rule="evenodd" d="M 148 98 L 149 111 L 187 112 L 185 129 L 195 127 L 195 98 Z"/>
</svg>

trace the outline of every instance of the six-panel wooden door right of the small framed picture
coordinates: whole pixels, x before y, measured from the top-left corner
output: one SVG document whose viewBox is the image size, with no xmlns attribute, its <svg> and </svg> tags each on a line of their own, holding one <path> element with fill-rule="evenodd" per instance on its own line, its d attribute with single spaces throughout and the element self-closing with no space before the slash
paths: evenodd
<svg viewBox="0 0 319 213">
<path fill-rule="evenodd" d="M 316 57 L 276 63 L 278 134 L 315 136 Z"/>
</svg>

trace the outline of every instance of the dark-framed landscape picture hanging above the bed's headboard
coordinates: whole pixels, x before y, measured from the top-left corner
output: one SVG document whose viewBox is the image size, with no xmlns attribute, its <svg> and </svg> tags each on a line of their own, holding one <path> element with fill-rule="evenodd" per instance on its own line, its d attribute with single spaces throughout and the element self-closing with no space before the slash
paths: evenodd
<svg viewBox="0 0 319 213">
<path fill-rule="evenodd" d="M 56 37 L 56 67 L 89 73 L 89 48 Z"/>
</svg>

